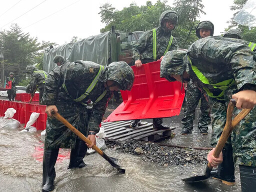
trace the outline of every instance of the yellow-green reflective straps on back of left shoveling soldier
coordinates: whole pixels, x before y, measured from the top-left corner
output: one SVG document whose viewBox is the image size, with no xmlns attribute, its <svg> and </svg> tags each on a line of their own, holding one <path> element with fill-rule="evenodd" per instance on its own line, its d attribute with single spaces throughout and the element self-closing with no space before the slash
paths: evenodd
<svg viewBox="0 0 256 192">
<path fill-rule="evenodd" d="M 85 91 L 81 96 L 79 96 L 78 98 L 75 98 L 75 99 L 72 98 L 74 101 L 80 102 L 82 105 L 85 105 L 85 106 L 91 105 L 91 104 L 86 104 L 86 103 L 82 102 L 82 100 L 83 100 L 84 98 L 86 98 L 86 96 L 88 96 L 89 93 L 92 91 L 92 89 L 94 88 L 94 86 L 96 85 L 96 83 L 97 83 L 97 81 L 98 81 L 99 76 L 102 74 L 103 69 L 104 69 L 104 66 L 100 65 L 100 68 L 99 68 L 99 70 L 98 70 L 97 75 L 94 77 L 94 79 L 92 80 L 92 82 L 90 83 L 90 85 L 88 86 L 88 88 L 86 89 L 86 91 Z M 65 92 L 68 94 L 67 88 L 66 88 L 66 86 L 65 86 L 64 83 L 62 84 L 62 87 L 64 88 Z M 105 96 L 106 91 L 107 91 L 107 90 L 105 89 L 104 92 L 101 93 L 101 94 L 99 95 L 99 97 L 93 102 L 93 104 L 96 104 L 99 100 L 101 100 L 101 99 Z"/>
</svg>

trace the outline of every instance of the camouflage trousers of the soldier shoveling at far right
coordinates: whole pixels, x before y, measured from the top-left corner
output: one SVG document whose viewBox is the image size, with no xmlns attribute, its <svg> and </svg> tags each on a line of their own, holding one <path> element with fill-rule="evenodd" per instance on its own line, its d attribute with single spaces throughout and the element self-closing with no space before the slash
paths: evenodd
<svg viewBox="0 0 256 192">
<path fill-rule="evenodd" d="M 209 98 L 212 117 L 211 144 L 216 145 L 226 121 L 226 109 L 229 98 L 220 101 Z M 233 114 L 237 115 L 239 109 L 234 108 Z M 256 166 L 256 109 L 240 121 L 230 134 L 227 143 L 232 144 L 234 162 L 246 166 Z"/>
</svg>

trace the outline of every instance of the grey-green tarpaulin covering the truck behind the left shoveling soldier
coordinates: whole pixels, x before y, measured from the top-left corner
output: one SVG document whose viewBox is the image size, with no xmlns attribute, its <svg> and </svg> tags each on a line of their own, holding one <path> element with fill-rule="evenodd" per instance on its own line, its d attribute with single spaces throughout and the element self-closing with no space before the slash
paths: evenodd
<svg viewBox="0 0 256 192">
<path fill-rule="evenodd" d="M 56 64 L 53 57 L 56 54 L 73 62 L 75 60 L 89 60 L 106 65 L 110 58 L 110 31 L 84 38 L 74 43 L 67 43 L 57 48 L 45 50 L 43 54 L 43 70 L 49 72 Z"/>
</svg>

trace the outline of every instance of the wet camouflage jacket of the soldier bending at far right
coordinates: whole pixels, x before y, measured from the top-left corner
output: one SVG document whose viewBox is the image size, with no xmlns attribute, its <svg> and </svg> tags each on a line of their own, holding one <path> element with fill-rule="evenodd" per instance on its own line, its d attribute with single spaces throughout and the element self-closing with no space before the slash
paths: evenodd
<svg viewBox="0 0 256 192">
<path fill-rule="evenodd" d="M 237 90 L 256 89 L 255 61 L 244 40 L 219 36 L 201 38 L 189 47 L 187 55 L 184 62 L 190 77 L 213 95 L 222 92 L 223 87 L 216 83 L 223 81 L 230 81 L 226 89 L 231 86 L 236 86 Z M 195 74 L 192 66 L 201 72 L 208 83 L 197 80 L 198 74 Z"/>
</svg>

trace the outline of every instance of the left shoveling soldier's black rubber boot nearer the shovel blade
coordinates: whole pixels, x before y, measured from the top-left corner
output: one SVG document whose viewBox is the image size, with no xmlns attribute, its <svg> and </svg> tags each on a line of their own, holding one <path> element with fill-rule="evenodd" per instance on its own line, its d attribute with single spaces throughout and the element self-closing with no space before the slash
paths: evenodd
<svg viewBox="0 0 256 192">
<path fill-rule="evenodd" d="M 87 151 L 87 145 L 83 140 L 77 139 L 75 147 L 71 149 L 70 160 L 67 168 L 82 168 L 86 166 L 83 162 L 83 158 Z"/>
</svg>

